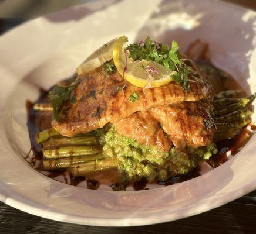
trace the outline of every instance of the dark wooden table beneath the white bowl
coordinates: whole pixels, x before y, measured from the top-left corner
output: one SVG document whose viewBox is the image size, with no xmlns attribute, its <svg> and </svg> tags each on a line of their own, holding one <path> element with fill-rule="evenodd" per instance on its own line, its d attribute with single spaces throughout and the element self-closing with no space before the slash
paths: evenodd
<svg viewBox="0 0 256 234">
<path fill-rule="evenodd" d="M 226 1 L 256 8 L 255 0 Z M 23 19 L 0 19 L 0 35 L 23 21 Z M 5 233 L 256 233 L 256 190 L 200 215 L 158 225 L 132 228 L 105 228 L 56 222 L 27 214 L 0 202 L 0 234 Z"/>
</svg>

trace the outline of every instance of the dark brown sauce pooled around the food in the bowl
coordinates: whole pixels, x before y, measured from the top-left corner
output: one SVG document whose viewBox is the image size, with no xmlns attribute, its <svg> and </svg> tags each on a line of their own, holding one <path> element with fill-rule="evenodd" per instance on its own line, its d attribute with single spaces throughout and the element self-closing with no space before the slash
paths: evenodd
<svg viewBox="0 0 256 234">
<path fill-rule="evenodd" d="M 225 79 L 218 81 L 218 85 L 221 84 L 221 90 L 240 90 L 240 94 L 238 97 L 245 97 L 247 96 L 246 92 L 242 89 L 241 85 L 231 77 L 230 75 L 226 74 Z M 39 99 L 36 103 L 45 103 L 48 102 L 48 91 L 40 90 Z M 25 157 L 26 161 L 35 170 L 38 170 L 40 173 L 45 174 L 46 176 L 53 178 L 54 180 L 58 180 L 62 183 L 89 188 L 96 190 L 99 188 L 100 184 L 111 186 L 113 191 L 121 191 L 126 190 L 128 185 L 132 185 L 134 190 L 144 190 L 146 188 L 147 181 L 142 179 L 139 182 L 134 184 L 128 184 L 120 182 L 120 174 L 117 170 L 109 171 L 102 174 L 97 174 L 92 177 L 87 176 L 87 178 L 80 176 L 80 177 L 73 177 L 72 174 L 69 172 L 69 169 L 66 170 L 56 170 L 56 171 L 44 171 L 42 166 L 42 146 L 37 144 L 35 141 L 36 133 L 48 129 L 51 127 L 50 120 L 52 118 L 52 112 L 50 111 L 34 111 L 33 110 L 33 103 L 30 101 L 26 102 L 26 108 L 28 110 L 28 130 L 29 130 L 29 137 L 31 140 L 31 150 L 28 155 Z M 237 152 L 239 152 L 242 147 L 248 142 L 250 137 L 256 131 L 256 126 L 250 125 L 250 127 L 244 128 L 238 133 L 235 137 L 228 140 L 221 140 L 217 142 L 218 154 L 211 157 L 210 160 L 207 161 L 211 167 L 215 168 L 220 166 L 221 164 L 225 163 L 228 159 L 233 157 Z M 160 185 L 171 185 L 175 183 L 180 183 L 182 181 L 190 180 L 191 178 L 200 176 L 200 168 L 195 168 L 193 171 L 188 173 L 186 176 L 173 176 L 170 180 L 161 182 L 159 181 L 158 184 Z"/>
</svg>

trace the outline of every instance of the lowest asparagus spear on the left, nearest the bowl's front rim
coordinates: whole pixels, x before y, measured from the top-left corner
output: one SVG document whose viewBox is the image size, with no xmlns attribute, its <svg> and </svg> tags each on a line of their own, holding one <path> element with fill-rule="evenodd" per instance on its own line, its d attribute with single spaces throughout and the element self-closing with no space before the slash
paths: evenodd
<svg viewBox="0 0 256 234">
<path fill-rule="evenodd" d="M 117 168 L 117 159 L 106 158 L 96 161 L 88 161 L 77 165 L 71 165 L 71 173 L 73 176 L 85 176 L 86 174 L 97 173 L 99 171 L 107 171 Z"/>
</svg>

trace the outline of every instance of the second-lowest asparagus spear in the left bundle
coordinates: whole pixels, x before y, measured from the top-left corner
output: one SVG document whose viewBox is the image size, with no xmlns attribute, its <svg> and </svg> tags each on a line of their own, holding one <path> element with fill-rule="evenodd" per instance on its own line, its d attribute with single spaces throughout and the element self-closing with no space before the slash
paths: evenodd
<svg viewBox="0 0 256 234">
<path fill-rule="evenodd" d="M 104 156 L 102 154 L 94 154 L 87 156 L 78 156 L 78 157 L 64 157 L 62 159 L 49 159 L 43 160 L 43 168 L 46 171 L 50 170 L 58 170 L 68 168 L 70 165 L 85 163 L 86 161 L 103 159 Z"/>
</svg>

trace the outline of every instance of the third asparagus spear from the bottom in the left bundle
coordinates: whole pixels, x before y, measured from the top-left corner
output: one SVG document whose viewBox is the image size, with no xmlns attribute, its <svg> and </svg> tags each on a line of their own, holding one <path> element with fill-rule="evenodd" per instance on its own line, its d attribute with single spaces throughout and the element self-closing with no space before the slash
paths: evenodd
<svg viewBox="0 0 256 234">
<path fill-rule="evenodd" d="M 43 149 L 43 156 L 46 159 L 58 159 L 60 157 L 84 156 L 101 153 L 99 146 L 65 146 L 56 149 Z"/>
</svg>

